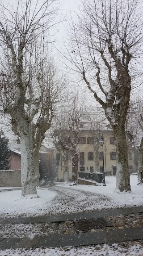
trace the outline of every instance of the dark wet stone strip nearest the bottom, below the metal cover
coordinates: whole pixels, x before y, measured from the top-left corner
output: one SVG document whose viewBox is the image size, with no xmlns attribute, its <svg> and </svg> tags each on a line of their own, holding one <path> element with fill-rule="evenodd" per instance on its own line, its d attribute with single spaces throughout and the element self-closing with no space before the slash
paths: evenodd
<svg viewBox="0 0 143 256">
<path fill-rule="evenodd" d="M 0 249 L 67 247 L 97 245 L 101 243 L 120 243 L 143 239 L 143 227 L 129 229 L 114 229 L 85 234 L 51 235 L 30 238 L 1 238 Z"/>
</svg>

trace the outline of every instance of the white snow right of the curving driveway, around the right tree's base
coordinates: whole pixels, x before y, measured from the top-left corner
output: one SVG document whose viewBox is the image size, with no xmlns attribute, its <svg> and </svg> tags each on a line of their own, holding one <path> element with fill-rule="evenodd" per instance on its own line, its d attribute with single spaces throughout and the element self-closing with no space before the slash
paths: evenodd
<svg viewBox="0 0 143 256">
<path fill-rule="evenodd" d="M 112 199 L 109 202 L 107 208 L 117 208 L 117 207 L 128 207 L 128 206 L 139 206 L 143 205 L 143 185 L 137 185 L 137 175 L 130 175 L 130 186 L 132 193 L 116 193 L 114 192 L 116 188 L 116 177 L 106 176 L 105 177 L 106 186 L 92 186 L 92 185 L 78 185 L 69 186 L 68 184 L 58 184 L 56 186 L 69 188 L 74 190 L 83 190 L 92 193 L 98 193 L 105 195 Z M 104 205 L 98 204 L 98 209 L 103 208 Z"/>
</svg>

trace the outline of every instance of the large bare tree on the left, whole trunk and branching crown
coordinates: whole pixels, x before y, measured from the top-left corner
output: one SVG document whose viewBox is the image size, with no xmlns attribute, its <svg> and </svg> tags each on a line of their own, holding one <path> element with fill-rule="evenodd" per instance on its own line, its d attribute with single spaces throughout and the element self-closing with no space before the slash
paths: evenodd
<svg viewBox="0 0 143 256">
<path fill-rule="evenodd" d="M 47 46 L 57 13 L 52 3 L 18 0 L 16 8 L 0 5 L 0 105 L 20 137 L 24 197 L 38 196 L 39 148 L 65 85 Z"/>
</svg>

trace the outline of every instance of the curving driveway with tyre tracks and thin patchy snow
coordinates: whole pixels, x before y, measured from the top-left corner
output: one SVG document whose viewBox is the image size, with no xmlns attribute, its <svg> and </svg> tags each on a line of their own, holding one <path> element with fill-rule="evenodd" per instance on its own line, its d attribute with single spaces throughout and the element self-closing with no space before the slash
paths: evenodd
<svg viewBox="0 0 143 256">
<path fill-rule="evenodd" d="M 71 189 L 71 187 L 54 186 L 50 190 L 56 192 L 57 196 L 50 202 L 45 214 L 94 211 L 99 208 L 108 208 L 111 202 L 111 198 L 105 195 L 79 189 L 75 190 Z"/>
</svg>

